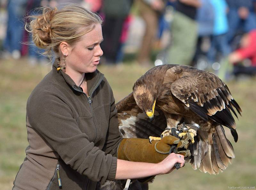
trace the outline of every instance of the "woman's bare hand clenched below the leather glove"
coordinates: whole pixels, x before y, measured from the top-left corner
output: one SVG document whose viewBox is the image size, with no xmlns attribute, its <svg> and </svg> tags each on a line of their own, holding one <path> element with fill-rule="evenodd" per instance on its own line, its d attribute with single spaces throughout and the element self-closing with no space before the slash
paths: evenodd
<svg viewBox="0 0 256 190">
<path fill-rule="evenodd" d="M 158 175 L 171 173 L 175 169 L 174 164 L 180 163 L 180 167 L 185 165 L 184 156 L 181 154 L 171 153 L 162 162 L 158 163 L 160 173 Z"/>
</svg>

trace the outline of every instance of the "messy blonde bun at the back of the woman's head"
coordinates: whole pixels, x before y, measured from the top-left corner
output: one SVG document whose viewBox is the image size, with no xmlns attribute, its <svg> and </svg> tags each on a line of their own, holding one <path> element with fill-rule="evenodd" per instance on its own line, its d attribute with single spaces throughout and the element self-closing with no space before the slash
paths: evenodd
<svg viewBox="0 0 256 190">
<path fill-rule="evenodd" d="M 33 41 L 39 48 L 45 48 L 52 42 L 51 20 L 56 11 L 56 8 L 45 7 L 43 14 L 35 16 L 31 22 Z"/>
</svg>

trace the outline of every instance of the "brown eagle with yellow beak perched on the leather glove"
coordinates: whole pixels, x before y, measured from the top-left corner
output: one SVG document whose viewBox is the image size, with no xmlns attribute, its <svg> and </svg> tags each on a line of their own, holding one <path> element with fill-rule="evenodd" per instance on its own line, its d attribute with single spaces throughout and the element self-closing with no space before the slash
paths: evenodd
<svg viewBox="0 0 256 190">
<path fill-rule="evenodd" d="M 125 138 L 166 135 L 182 124 L 199 128 L 188 147 L 195 170 L 216 174 L 235 157 L 223 126 L 237 142 L 231 112 L 237 117 L 236 111 L 241 115 L 242 110 L 228 86 L 210 72 L 185 65 L 156 66 L 135 82 L 132 93 L 116 109 L 119 131 Z"/>
</svg>

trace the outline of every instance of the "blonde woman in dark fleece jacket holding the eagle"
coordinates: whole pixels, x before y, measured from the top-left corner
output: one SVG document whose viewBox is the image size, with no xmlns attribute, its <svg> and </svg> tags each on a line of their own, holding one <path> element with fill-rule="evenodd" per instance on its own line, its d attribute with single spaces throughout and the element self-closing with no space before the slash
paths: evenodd
<svg viewBox="0 0 256 190">
<path fill-rule="evenodd" d="M 158 164 L 114 157 L 120 144 L 118 155 L 126 159 L 123 145 L 127 139 L 119 136 L 113 93 L 97 70 L 103 54 L 98 15 L 69 4 L 60 10 L 44 7 L 42 15 L 32 18 L 26 28 L 34 43 L 58 58 L 28 98 L 29 146 L 13 189 L 91 190 L 107 179 L 144 178 L 169 173 L 175 163 L 184 165 L 182 155 L 166 157 L 155 151 L 156 143 L 145 139 L 137 145 L 154 150 L 152 154 L 146 151 L 155 158 L 148 162 Z M 179 141 L 173 136 L 163 140 L 156 149 L 165 152 Z"/>
</svg>

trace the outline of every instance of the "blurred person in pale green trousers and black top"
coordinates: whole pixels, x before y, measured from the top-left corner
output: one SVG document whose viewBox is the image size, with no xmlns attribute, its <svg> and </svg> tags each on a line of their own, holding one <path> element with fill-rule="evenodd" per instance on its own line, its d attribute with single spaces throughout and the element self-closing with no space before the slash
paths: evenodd
<svg viewBox="0 0 256 190">
<path fill-rule="evenodd" d="M 177 0 L 171 27 L 172 39 L 168 51 L 168 64 L 191 63 L 198 35 L 196 10 L 200 6 L 200 0 Z"/>
</svg>

